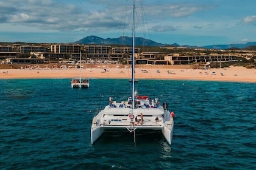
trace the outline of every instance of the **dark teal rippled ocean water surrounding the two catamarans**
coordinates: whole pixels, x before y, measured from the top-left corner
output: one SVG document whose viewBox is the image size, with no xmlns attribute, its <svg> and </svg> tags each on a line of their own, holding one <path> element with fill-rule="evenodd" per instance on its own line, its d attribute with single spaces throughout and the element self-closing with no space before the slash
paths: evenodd
<svg viewBox="0 0 256 170">
<path fill-rule="evenodd" d="M 90 144 L 96 109 L 130 95 L 128 80 L 0 80 L 0 169 L 256 169 L 256 84 L 139 80 L 140 95 L 176 113 L 161 134 L 104 135 Z"/>
</svg>

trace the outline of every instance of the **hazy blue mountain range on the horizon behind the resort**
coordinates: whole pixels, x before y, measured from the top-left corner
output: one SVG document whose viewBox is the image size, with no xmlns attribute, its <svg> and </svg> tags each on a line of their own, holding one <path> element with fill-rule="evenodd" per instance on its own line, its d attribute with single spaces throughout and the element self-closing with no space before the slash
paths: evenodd
<svg viewBox="0 0 256 170">
<path fill-rule="evenodd" d="M 101 38 L 98 36 L 87 36 L 78 41 L 73 42 L 75 44 L 94 44 L 94 45 L 126 45 L 132 46 L 132 37 L 129 36 L 120 36 L 119 38 Z M 174 44 L 162 44 L 159 42 L 152 41 L 151 39 L 145 39 L 141 37 L 135 38 L 136 46 L 154 46 L 154 47 L 189 47 L 189 48 L 198 48 L 198 46 L 180 46 L 177 43 Z M 204 49 L 246 49 L 251 46 L 256 46 L 256 42 L 247 42 L 246 44 L 228 44 L 228 45 L 211 45 L 211 46 L 202 46 Z M 255 49 L 255 47 L 253 48 Z"/>
</svg>

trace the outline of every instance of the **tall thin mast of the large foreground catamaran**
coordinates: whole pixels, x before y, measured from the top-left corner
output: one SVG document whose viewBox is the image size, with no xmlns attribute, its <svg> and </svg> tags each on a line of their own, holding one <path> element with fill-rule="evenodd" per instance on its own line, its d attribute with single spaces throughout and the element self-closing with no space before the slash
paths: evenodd
<svg viewBox="0 0 256 170">
<path fill-rule="evenodd" d="M 132 114 L 133 114 L 133 109 L 135 108 L 134 105 L 134 98 L 135 98 L 135 89 L 134 89 L 134 74 L 135 74 L 135 0 L 133 0 L 132 4 Z"/>
</svg>

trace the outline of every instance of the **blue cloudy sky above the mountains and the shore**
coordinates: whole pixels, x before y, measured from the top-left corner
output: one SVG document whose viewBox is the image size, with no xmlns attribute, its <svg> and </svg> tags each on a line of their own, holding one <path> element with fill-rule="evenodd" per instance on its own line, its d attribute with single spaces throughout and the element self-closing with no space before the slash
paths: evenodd
<svg viewBox="0 0 256 170">
<path fill-rule="evenodd" d="M 163 44 L 256 41 L 256 1 L 136 0 L 135 35 Z M 132 0 L 0 0 L 0 42 L 132 36 Z"/>
</svg>

